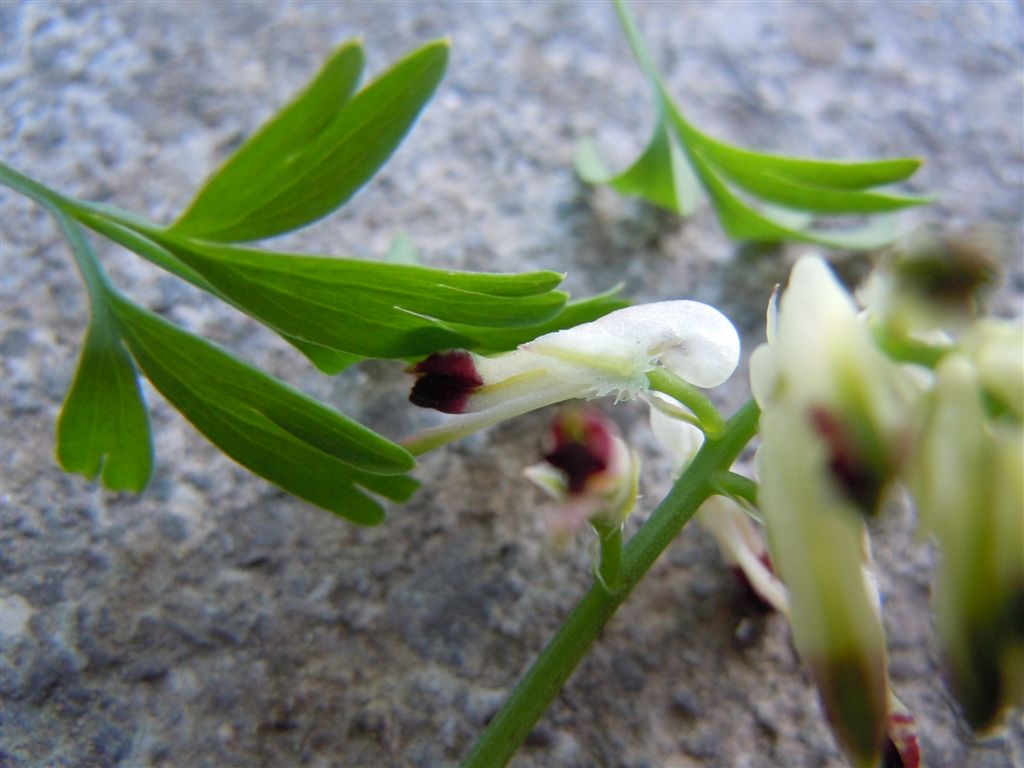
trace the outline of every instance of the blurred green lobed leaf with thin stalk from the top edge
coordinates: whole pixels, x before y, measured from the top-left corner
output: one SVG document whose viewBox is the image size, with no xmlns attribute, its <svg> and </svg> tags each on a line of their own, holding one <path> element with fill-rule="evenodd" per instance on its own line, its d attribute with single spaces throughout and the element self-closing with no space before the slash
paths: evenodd
<svg viewBox="0 0 1024 768">
<path fill-rule="evenodd" d="M 614 5 L 633 55 L 653 92 L 657 124 L 644 153 L 617 176 L 607 172 L 593 145 L 581 146 L 577 169 L 585 180 L 607 183 L 623 195 L 639 196 L 685 214 L 692 209 L 695 174 L 730 238 L 797 240 L 836 248 L 877 248 L 891 243 L 898 232 L 891 220 L 853 229 L 807 227 L 794 225 L 792 220 L 803 214 L 889 213 L 933 201 L 930 197 L 872 189 L 906 180 L 921 166 L 916 158 L 790 158 L 742 150 L 697 130 L 672 101 L 627 2 L 615 0 Z M 743 202 L 730 185 L 756 199 L 756 205 Z"/>
</svg>

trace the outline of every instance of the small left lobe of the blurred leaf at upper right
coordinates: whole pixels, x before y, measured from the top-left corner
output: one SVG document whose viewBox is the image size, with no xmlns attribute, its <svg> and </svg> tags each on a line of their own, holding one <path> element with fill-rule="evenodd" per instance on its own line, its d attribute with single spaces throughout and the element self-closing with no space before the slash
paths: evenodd
<svg viewBox="0 0 1024 768">
<path fill-rule="evenodd" d="M 688 216 L 696 204 L 696 180 L 672 134 L 659 120 L 647 147 L 617 175 L 608 172 L 591 140 L 577 150 L 577 173 L 591 184 L 607 184 L 620 195 L 642 198 L 659 208 Z"/>
</svg>

